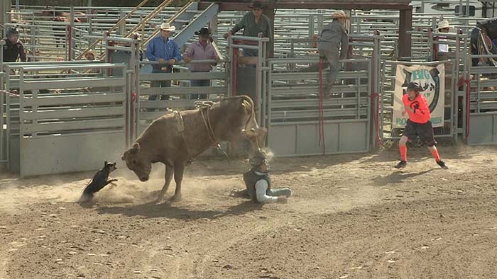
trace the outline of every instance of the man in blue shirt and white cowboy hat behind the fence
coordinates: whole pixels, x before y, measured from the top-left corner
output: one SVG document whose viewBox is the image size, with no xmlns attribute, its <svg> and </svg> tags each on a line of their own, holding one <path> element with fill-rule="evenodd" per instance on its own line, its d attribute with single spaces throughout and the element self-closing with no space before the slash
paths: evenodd
<svg viewBox="0 0 497 279">
<path fill-rule="evenodd" d="M 170 26 L 165 22 L 158 26 L 160 35 L 153 38 L 147 45 L 146 56 L 150 61 L 158 61 L 153 64 L 152 73 L 170 73 L 173 65 L 181 60 L 180 47 L 171 38 L 170 33 L 176 30 L 175 26 Z M 171 81 L 152 81 L 151 87 L 170 87 Z M 148 96 L 148 100 L 156 100 L 157 95 Z M 161 95 L 160 100 L 168 100 L 168 95 Z"/>
</svg>

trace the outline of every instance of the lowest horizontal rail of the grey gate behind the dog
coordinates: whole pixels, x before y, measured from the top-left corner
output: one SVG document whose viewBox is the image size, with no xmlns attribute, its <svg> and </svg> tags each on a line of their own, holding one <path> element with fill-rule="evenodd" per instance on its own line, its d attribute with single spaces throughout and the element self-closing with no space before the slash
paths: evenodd
<svg viewBox="0 0 497 279">
<path fill-rule="evenodd" d="M 113 127 L 124 127 L 124 118 L 102 119 L 102 120 L 84 120 L 84 121 L 66 121 L 56 123 L 23 123 L 23 133 L 30 132 L 62 132 L 67 130 L 90 130 Z"/>
</svg>

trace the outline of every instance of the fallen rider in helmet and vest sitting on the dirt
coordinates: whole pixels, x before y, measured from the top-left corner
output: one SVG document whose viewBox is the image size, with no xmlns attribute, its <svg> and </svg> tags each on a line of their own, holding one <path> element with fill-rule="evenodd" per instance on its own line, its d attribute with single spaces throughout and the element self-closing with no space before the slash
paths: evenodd
<svg viewBox="0 0 497 279">
<path fill-rule="evenodd" d="M 266 154 L 259 151 L 250 159 L 251 169 L 244 173 L 246 193 L 254 203 L 286 203 L 292 195 L 290 188 L 271 188 L 269 163 Z M 245 192 L 245 191 L 243 191 Z"/>
</svg>

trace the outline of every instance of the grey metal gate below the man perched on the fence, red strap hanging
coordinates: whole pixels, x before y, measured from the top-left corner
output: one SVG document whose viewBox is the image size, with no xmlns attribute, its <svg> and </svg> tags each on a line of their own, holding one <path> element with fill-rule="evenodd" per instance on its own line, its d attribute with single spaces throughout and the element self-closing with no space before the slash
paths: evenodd
<svg viewBox="0 0 497 279">
<path fill-rule="evenodd" d="M 320 101 L 317 57 L 268 59 L 268 147 L 278 156 L 368 152 L 371 60 L 365 70 L 340 72 L 343 83 Z M 302 65 L 309 65 L 307 69 Z M 300 65 L 300 67 L 297 67 Z M 326 71 L 324 71 L 324 79 Z M 329 94 L 327 94 L 329 95 Z M 263 97 L 264 98 L 264 97 Z"/>
</svg>

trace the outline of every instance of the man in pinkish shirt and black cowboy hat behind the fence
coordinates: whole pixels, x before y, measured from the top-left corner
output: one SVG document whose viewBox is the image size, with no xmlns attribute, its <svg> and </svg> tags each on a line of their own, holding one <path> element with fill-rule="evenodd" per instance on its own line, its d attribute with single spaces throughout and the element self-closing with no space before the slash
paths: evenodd
<svg viewBox="0 0 497 279">
<path fill-rule="evenodd" d="M 209 28 L 201 28 L 195 31 L 195 35 L 199 36 L 197 42 L 192 42 L 188 45 L 183 59 L 185 62 L 190 63 L 192 60 L 205 60 L 205 59 L 215 59 L 219 62 L 219 57 L 217 57 L 216 50 L 212 47 L 210 43 L 211 33 Z M 188 64 L 188 69 L 190 72 L 210 72 L 212 66 L 217 63 L 190 63 Z M 210 86 L 210 79 L 191 79 L 190 86 Z M 207 94 L 192 94 L 190 99 L 205 99 Z"/>
</svg>

